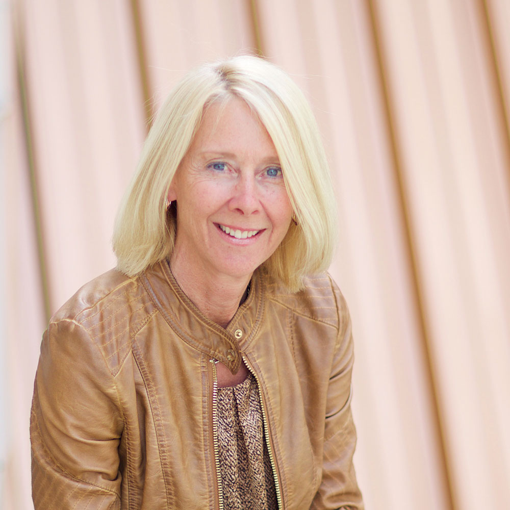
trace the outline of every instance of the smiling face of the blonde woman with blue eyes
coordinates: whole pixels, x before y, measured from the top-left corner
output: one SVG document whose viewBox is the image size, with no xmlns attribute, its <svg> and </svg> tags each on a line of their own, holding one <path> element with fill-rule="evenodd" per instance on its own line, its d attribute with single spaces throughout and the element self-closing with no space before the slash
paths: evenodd
<svg viewBox="0 0 510 510">
<path fill-rule="evenodd" d="M 246 282 L 282 242 L 292 217 L 273 142 L 237 97 L 206 110 L 168 198 L 177 201 L 172 264 L 203 278 Z"/>
</svg>

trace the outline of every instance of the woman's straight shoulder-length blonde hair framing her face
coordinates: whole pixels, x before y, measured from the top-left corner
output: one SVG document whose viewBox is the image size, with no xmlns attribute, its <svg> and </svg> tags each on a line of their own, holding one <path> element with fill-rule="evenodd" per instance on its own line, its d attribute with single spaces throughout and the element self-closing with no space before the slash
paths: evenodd
<svg viewBox="0 0 510 510">
<path fill-rule="evenodd" d="M 337 233 L 336 202 L 314 115 L 282 69 L 244 55 L 197 67 L 170 92 L 117 213 L 113 249 L 120 271 L 135 276 L 169 258 L 176 235 L 176 208 L 166 210 L 168 188 L 205 108 L 231 96 L 243 99 L 269 133 L 298 222 L 291 223 L 263 268 L 297 291 L 305 275 L 329 266 Z"/>
</svg>

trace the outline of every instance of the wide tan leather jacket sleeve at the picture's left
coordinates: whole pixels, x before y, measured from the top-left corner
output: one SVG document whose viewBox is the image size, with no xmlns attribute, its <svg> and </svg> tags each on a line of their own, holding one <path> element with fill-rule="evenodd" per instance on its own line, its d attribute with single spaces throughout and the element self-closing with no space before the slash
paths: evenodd
<svg viewBox="0 0 510 510">
<path fill-rule="evenodd" d="M 30 419 L 35 510 L 120 508 L 121 432 L 115 381 L 103 355 L 77 322 L 50 323 Z"/>
</svg>

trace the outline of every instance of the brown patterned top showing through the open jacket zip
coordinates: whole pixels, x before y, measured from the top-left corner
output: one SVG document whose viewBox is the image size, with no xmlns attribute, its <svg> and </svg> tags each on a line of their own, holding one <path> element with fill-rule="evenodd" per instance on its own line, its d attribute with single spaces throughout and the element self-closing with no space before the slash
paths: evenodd
<svg viewBox="0 0 510 510">
<path fill-rule="evenodd" d="M 236 386 L 218 388 L 218 453 L 225 509 L 277 510 L 259 388 L 251 374 Z"/>
</svg>

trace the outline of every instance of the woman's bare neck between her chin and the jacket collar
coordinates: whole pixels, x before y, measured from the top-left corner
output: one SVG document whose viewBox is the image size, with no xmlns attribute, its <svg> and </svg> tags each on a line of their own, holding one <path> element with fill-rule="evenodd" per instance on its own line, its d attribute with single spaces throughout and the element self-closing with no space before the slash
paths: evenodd
<svg viewBox="0 0 510 510">
<path fill-rule="evenodd" d="M 170 270 L 183 292 L 208 319 L 226 327 L 239 305 L 247 297 L 251 275 L 233 278 L 226 275 L 202 277 L 200 272 L 189 271 L 179 258 L 170 258 Z"/>
</svg>

